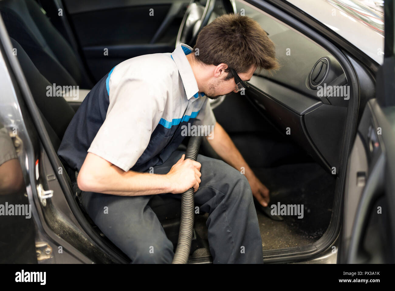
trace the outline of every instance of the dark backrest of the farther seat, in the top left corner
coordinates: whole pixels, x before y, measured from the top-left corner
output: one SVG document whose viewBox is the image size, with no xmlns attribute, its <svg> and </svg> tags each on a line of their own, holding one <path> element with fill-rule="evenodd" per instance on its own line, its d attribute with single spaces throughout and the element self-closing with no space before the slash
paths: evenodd
<svg viewBox="0 0 395 291">
<path fill-rule="evenodd" d="M 51 84 L 92 87 L 79 57 L 34 0 L 2 0 L 0 12 L 9 36 Z"/>
</svg>

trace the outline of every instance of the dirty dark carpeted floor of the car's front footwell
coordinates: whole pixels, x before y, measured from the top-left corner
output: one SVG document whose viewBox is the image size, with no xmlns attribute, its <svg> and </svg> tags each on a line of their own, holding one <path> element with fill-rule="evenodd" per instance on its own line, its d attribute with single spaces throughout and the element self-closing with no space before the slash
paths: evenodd
<svg viewBox="0 0 395 291">
<path fill-rule="evenodd" d="M 262 249 L 282 249 L 308 245 L 317 241 L 327 229 L 331 215 L 335 179 L 316 163 L 281 165 L 275 168 L 253 169 L 270 190 L 271 202 L 277 204 L 303 204 L 303 218 L 282 216 L 274 221 L 257 209 L 262 238 Z M 207 240 L 205 226 L 208 214 L 196 216 L 196 233 Z M 207 254 L 199 249 L 194 256 Z"/>
</svg>

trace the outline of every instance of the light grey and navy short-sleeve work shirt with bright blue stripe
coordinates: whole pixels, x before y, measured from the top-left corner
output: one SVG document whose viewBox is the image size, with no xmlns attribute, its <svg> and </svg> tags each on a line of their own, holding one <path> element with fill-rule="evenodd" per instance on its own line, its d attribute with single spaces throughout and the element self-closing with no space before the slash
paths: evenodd
<svg viewBox="0 0 395 291">
<path fill-rule="evenodd" d="M 216 120 L 180 44 L 115 66 L 84 99 L 58 155 L 76 171 L 92 152 L 124 171 L 162 164 L 194 126 L 210 132 Z M 202 127 L 203 128 L 203 127 Z M 203 132 L 198 133 L 203 134 Z"/>
</svg>

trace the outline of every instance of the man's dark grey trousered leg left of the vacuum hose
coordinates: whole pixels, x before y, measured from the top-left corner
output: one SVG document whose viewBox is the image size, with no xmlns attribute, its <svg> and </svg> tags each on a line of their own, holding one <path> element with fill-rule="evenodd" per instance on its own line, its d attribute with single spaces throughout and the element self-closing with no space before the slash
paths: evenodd
<svg viewBox="0 0 395 291">
<path fill-rule="evenodd" d="M 133 262 L 170 263 L 173 244 L 148 196 L 117 196 L 83 192 L 81 202 L 100 230 Z"/>
</svg>

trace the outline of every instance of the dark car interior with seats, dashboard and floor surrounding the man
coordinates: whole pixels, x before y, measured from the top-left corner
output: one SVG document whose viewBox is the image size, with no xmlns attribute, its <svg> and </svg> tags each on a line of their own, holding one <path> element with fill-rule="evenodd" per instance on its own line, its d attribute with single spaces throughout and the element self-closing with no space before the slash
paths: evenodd
<svg viewBox="0 0 395 291">
<path fill-rule="evenodd" d="M 126 59 L 172 52 L 189 3 L 0 1 L 2 19 L 55 151 L 82 100 L 47 97 L 47 86 L 89 90 Z M 256 203 L 264 254 L 311 247 L 327 232 L 339 207 L 335 188 L 339 169 L 344 167 L 342 151 L 349 104 L 343 98 L 318 96 L 317 84 L 324 81 L 343 86 L 349 84 L 351 76 L 314 40 L 246 2 L 215 1 L 210 21 L 235 12 L 252 17 L 267 32 L 275 43 L 281 68 L 273 74 L 264 70 L 254 74 L 248 90 L 222 96 L 211 101 L 211 106 L 217 122 L 269 188 L 269 205 L 303 205 L 303 219 L 285 215 L 282 221 L 276 221 Z M 351 62 L 357 66 L 356 61 Z M 372 78 L 366 77 L 365 86 L 370 89 L 360 93 L 361 99 L 372 97 Z M 180 150 L 186 149 L 187 141 Z M 221 159 L 204 140 L 200 153 Z M 68 198 L 62 199 L 71 203 Z M 75 193 L 72 203 L 78 205 Z M 154 195 L 149 205 L 177 247 L 181 202 Z M 79 211 L 100 239 L 122 256 L 122 251 L 81 207 Z M 195 216 L 191 261 L 210 257 L 207 217 L 208 213 Z"/>
</svg>

